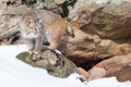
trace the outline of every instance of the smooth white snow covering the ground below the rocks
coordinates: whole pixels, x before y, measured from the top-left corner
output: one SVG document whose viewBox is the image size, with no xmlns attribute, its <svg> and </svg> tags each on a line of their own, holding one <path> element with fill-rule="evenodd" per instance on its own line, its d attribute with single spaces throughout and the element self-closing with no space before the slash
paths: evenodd
<svg viewBox="0 0 131 87">
<path fill-rule="evenodd" d="M 131 82 L 119 83 L 116 77 L 81 83 L 79 74 L 67 78 L 51 76 L 46 70 L 33 67 L 16 59 L 27 51 L 26 45 L 0 46 L 0 87 L 131 87 Z"/>
</svg>

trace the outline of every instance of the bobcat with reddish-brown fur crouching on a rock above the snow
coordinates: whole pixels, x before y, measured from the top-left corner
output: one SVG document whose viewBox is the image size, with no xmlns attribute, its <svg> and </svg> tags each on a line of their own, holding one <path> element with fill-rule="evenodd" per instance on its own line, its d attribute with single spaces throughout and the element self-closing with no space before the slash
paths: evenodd
<svg viewBox="0 0 131 87">
<path fill-rule="evenodd" d="M 66 20 L 46 10 L 25 13 L 20 20 L 20 32 L 31 53 L 43 49 L 56 50 L 64 35 L 74 37 Z"/>
</svg>

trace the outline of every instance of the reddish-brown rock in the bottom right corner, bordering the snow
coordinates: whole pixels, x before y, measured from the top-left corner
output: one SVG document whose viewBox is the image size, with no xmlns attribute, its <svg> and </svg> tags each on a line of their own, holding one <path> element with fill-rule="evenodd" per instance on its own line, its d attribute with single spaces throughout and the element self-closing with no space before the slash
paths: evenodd
<svg viewBox="0 0 131 87">
<path fill-rule="evenodd" d="M 130 64 L 131 64 L 131 53 L 112 57 L 110 59 L 102 61 L 100 63 L 96 64 L 93 69 L 91 69 L 88 71 L 90 72 L 88 79 L 91 78 L 95 79 L 105 76 L 117 76 L 117 78 L 121 82 L 131 80 Z"/>
</svg>

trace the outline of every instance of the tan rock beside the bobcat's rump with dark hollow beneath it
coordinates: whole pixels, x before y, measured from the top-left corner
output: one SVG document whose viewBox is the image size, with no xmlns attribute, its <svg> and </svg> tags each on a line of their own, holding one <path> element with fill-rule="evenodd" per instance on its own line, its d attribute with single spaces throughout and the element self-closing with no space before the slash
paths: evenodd
<svg viewBox="0 0 131 87">
<path fill-rule="evenodd" d="M 78 66 L 88 70 L 99 60 L 112 57 L 109 50 L 116 46 L 115 42 L 85 34 L 75 25 L 73 29 L 75 37 L 69 38 L 66 48 L 60 48 L 60 51 Z"/>
</svg>

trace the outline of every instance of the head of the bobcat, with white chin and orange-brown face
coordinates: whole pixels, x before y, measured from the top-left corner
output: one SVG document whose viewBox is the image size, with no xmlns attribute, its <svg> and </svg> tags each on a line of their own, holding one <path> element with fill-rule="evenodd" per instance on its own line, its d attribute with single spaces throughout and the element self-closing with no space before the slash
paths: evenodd
<svg viewBox="0 0 131 87">
<path fill-rule="evenodd" d="M 23 15 L 20 23 L 20 30 L 23 38 L 37 38 L 43 30 L 40 17 L 38 17 L 38 15 L 34 12 L 28 12 L 27 14 Z"/>
</svg>

